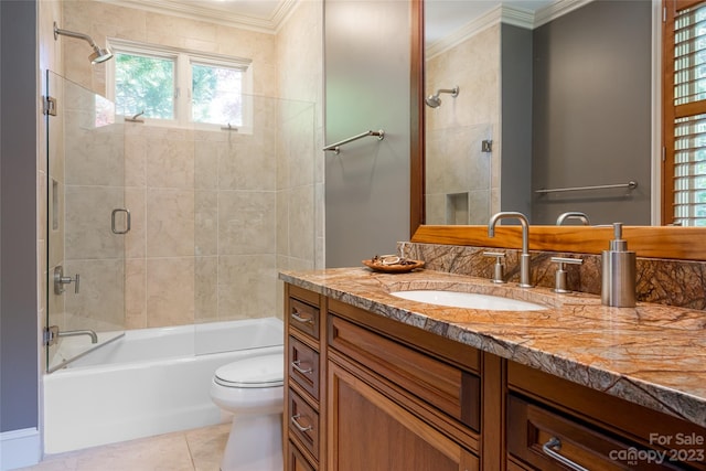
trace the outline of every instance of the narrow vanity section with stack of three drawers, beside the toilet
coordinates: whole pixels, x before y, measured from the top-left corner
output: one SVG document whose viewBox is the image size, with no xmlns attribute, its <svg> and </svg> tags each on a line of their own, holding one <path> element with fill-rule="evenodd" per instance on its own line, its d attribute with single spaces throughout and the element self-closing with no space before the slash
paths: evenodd
<svg viewBox="0 0 706 471">
<path fill-rule="evenodd" d="M 285 283 L 285 470 L 324 470 L 325 298 Z"/>
</svg>

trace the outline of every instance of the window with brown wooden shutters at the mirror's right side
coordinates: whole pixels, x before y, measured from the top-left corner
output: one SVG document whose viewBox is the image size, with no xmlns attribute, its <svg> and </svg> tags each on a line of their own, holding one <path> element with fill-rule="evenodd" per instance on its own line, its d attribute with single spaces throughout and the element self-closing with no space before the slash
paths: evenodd
<svg viewBox="0 0 706 471">
<path fill-rule="evenodd" d="M 663 223 L 706 226 L 706 1 L 665 0 Z"/>
</svg>

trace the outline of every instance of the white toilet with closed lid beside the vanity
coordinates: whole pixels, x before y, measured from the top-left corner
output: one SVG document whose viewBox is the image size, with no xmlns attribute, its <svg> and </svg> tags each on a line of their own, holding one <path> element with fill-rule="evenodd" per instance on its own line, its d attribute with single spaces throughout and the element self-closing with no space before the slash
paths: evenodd
<svg viewBox="0 0 706 471">
<path fill-rule="evenodd" d="M 279 352 L 216 370 L 211 398 L 234 415 L 221 471 L 282 470 L 284 362 Z"/>
</svg>

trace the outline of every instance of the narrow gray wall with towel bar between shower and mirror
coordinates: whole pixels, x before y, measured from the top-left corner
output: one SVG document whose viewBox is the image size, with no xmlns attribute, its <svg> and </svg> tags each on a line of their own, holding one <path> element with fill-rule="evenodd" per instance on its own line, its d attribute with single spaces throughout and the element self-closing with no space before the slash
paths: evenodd
<svg viewBox="0 0 706 471">
<path fill-rule="evenodd" d="M 384 129 L 325 157 L 325 264 L 359 266 L 409 239 L 410 6 L 327 0 L 325 141 Z"/>
</svg>

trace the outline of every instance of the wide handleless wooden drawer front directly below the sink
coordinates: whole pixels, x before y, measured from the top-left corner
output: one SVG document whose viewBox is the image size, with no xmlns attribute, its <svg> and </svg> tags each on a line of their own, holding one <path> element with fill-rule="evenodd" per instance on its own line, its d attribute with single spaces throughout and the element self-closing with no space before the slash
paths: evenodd
<svg viewBox="0 0 706 471">
<path fill-rule="evenodd" d="M 478 376 L 335 315 L 329 315 L 329 344 L 462 424 L 479 430 Z"/>
</svg>

